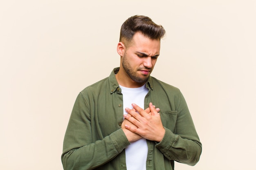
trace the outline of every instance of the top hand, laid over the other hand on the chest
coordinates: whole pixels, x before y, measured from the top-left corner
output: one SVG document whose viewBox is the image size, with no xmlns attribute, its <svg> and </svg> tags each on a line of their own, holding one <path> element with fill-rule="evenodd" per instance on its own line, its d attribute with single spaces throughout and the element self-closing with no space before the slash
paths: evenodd
<svg viewBox="0 0 256 170">
<path fill-rule="evenodd" d="M 148 140 L 160 142 L 164 137 L 165 129 L 157 112 L 159 108 L 156 109 L 152 103 L 146 110 L 136 104 L 132 104 L 132 106 L 134 109 L 126 108 L 128 114 L 124 115 L 125 119 L 132 123 L 132 126 L 125 124 L 125 128 Z"/>
</svg>

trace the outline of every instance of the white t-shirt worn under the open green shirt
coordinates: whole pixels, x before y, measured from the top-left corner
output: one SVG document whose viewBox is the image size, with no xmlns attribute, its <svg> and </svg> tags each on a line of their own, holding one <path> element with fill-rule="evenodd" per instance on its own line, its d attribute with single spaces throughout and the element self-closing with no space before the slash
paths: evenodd
<svg viewBox="0 0 256 170">
<path fill-rule="evenodd" d="M 125 108 L 132 108 L 132 103 L 144 108 L 145 96 L 148 93 L 146 85 L 139 88 L 127 88 L 123 86 L 120 86 L 120 88 L 123 94 L 124 114 L 127 114 Z M 146 161 L 148 156 L 148 145 L 146 139 L 142 138 L 131 142 L 131 144 L 125 149 L 125 152 L 127 170 L 146 170 Z"/>
</svg>

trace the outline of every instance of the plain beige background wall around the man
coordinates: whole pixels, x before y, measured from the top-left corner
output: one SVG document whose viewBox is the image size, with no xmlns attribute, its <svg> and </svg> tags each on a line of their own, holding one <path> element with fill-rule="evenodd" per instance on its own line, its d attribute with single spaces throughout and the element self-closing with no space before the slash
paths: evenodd
<svg viewBox="0 0 256 170">
<path fill-rule="evenodd" d="M 1 1 L 0 169 L 62 170 L 74 100 L 119 66 L 135 14 L 166 29 L 152 75 L 180 88 L 203 144 L 175 169 L 255 170 L 255 0 Z"/>
</svg>

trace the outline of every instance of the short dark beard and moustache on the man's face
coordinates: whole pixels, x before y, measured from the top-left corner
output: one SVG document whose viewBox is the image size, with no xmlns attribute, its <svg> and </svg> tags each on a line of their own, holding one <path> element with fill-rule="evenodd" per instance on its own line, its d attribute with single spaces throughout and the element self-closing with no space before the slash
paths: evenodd
<svg viewBox="0 0 256 170">
<path fill-rule="evenodd" d="M 124 68 L 124 71 L 126 71 L 126 73 L 131 77 L 131 79 L 138 83 L 146 82 L 148 80 L 148 77 L 149 77 L 151 71 L 152 71 L 152 68 L 147 68 L 144 66 L 135 68 L 135 70 L 133 70 L 132 66 L 130 66 L 130 63 L 127 60 L 126 55 L 123 56 L 122 66 Z M 138 75 L 137 71 L 144 70 L 144 69 L 150 70 L 150 73 L 148 75 Z"/>
</svg>

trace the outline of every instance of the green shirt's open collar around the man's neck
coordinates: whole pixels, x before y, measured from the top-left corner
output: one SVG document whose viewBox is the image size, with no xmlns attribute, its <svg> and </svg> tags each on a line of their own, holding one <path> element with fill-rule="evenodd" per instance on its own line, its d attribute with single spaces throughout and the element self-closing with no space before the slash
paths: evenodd
<svg viewBox="0 0 256 170">
<path fill-rule="evenodd" d="M 110 76 L 109 76 L 109 84 L 110 84 L 110 93 L 114 93 L 117 88 L 119 88 L 119 84 L 117 82 L 117 79 L 116 79 L 116 74 L 118 73 L 119 71 L 119 67 L 117 68 L 114 68 L 113 71 L 110 73 Z M 152 85 L 152 77 L 149 76 L 148 77 L 148 80 L 146 82 L 146 87 L 149 89 L 151 88 L 151 90 L 153 90 L 153 85 Z"/>
</svg>

